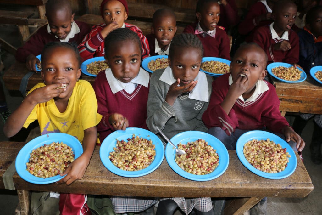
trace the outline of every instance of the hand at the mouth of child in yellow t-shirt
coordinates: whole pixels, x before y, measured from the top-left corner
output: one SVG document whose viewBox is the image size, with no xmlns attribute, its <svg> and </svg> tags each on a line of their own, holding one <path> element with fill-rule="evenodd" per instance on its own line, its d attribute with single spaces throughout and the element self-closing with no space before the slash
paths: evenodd
<svg viewBox="0 0 322 215">
<path fill-rule="evenodd" d="M 62 86 L 62 83 L 55 83 L 37 88 L 33 92 L 29 93 L 26 99 L 28 99 L 29 101 L 31 101 L 31 103 L 34 104 L 48 102 L 52 98 L 55 98 L 66 91 L 66 88 L 56 89 L 57 87 Z"/>
</svg>

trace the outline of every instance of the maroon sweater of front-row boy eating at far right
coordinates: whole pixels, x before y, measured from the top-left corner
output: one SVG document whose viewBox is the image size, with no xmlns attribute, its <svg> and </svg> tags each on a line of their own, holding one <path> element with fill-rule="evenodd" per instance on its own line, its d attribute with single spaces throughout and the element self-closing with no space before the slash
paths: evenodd
<svg viewBox="0 0 322 215">
<path fill-rule="evenodd" d="M 289 125 L 279 112 L 279 98 L 275 87 L 266 82 L 269 90 L 261 93 L 255 101 L 243 102 L 237 99 L 231 111 L 227 115 L 221 103 L 226 97 L 229 86 L 230 73 L 223 74 L 216 78 L 213 85 L 213 92 L 210 97 L 207 110 L 202 115 L 202 120 L 207 128 L 220 127 L 227 135 L 230 135 L 236 128 L 243 130 L 257 130 L 266 126 L 273 132 L 281 133 L 284 126 Z"/>
</svg>

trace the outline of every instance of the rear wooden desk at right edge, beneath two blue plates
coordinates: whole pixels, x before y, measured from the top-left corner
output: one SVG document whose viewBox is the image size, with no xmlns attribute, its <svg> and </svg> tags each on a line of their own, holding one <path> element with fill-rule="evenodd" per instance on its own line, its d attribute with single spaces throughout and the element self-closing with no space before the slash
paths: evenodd
<svg viewBox="0 0 322 215">
<path fill-rule="evenodd" d="M 322 85 L 310 75 L 300 83 L 284 83 L 271 77 L 279 97 L 279 110 L 322 114 Z"/>
</svg>

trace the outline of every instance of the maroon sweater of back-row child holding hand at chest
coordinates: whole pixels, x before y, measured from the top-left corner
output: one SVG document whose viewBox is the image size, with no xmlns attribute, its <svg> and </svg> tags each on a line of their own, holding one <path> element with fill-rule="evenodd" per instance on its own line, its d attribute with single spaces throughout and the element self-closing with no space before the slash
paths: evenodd
<svg viewBox="0 0 322 215">
<path fill-rule="evenodd" d="M 292 48 L 288 51 L 273 50 L 272 45 L 281 41 L 283 41 L 283 39 L 272 39 L 270 25 L 262 26 L 254 32 L 253 42 L 257 43 L 266 52 L 268 56 L 267 64 L 272 62 L 297 64 L 299 56 L 298 35 L 293 30 L 289 30 L 289 43 L 291 44 Z"/>
</svg>

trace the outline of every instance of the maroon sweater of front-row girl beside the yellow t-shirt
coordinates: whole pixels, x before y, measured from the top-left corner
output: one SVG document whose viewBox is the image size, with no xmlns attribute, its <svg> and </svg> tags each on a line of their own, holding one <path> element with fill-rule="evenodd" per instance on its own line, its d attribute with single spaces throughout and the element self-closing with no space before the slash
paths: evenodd
<svg viewBox="0 0 322 215">
<path fill-rule="evenodd" d="M 126 117 L 129 127 L 148 129 L 146 120 L 149 87 L 139 84 L 132 94 L 125 90 L 113 94 L 104 70 L 96 76 L 93 88 L 98 104 L 97 112 L 103 116 L 97 125 L 100 142 L 114 132 L 113 126 L 109 124 L 109 116 L 113 113 L 120 113 Z"/>
</svg>

